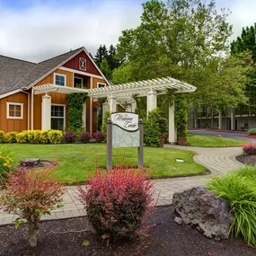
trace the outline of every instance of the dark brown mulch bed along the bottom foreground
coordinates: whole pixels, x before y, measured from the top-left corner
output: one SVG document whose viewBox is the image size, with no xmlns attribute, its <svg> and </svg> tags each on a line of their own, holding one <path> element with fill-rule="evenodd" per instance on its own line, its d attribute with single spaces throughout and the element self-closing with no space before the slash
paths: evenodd
<svg viewBox="0 0 256 256">
<path fill-rule="evenodd" d="M 199 234 L 195 229 L 173 222 L 171 206 L 157 207 L 154 227 L 148 236 L 134 242 L 107 245 L 93 234 L 86 217 L 41 223 L 40 241 L 31 249 L 23 235 L 26 225 L 15 229 L 13 225 L 0 227 L 0 255 L 2 256 L 255 256 L 256 249 L 243 240 L 215 242 Z M 68 231 L 81 231 L 65 233 Z M 86 231 L 87 230 L 87 231 Z M 89 244 L 83 245 L 85 242 Z"/>
</svg>

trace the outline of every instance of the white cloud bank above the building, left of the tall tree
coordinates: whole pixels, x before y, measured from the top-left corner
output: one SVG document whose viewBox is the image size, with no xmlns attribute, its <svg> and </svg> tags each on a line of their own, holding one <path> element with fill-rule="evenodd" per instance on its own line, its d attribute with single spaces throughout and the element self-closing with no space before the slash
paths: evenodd
<svg viewBox="0 0 256 256">
<path fill-rule="evenodd" d="M 122 30 L 136 27 L 141 13 L 140 4 L 121 1 L 89 8 L 86 3 L 36 4 L 22 11 L 2 7 L 0 54 L 41 61 L 81 46 L 94 54 L 100 44 L 116 44 Z"/>
</svg>

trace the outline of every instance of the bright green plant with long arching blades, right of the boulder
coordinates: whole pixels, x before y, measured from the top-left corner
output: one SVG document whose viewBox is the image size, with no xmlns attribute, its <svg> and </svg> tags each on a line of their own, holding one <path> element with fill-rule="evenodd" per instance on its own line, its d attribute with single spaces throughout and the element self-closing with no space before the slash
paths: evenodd
<svg viewBox="0 0 256 256">
<path fill-rule="evenodd" d="M 234 220 L 230 235 L 243 235 L 256 245 L 256 167 L 246 166 L 225 176 L 212 178 L 207 189 L 224 199 L 231 207 Z"/>
</svg>

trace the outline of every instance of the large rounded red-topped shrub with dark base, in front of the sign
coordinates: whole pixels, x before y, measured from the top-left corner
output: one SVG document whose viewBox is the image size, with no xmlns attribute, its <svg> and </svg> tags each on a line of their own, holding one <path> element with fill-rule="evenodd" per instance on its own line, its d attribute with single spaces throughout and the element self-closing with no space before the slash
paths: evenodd
<svg viewBox="0 0 256 256">
<path fill-rule="evenodd" d="M 148 172 L 135 168 L 96 170 L 90 188 L 79 186 L 79 199 L 96 234 L 117 241 L 146 230 L 154 212 L 154 183 Z"/>
</svg>

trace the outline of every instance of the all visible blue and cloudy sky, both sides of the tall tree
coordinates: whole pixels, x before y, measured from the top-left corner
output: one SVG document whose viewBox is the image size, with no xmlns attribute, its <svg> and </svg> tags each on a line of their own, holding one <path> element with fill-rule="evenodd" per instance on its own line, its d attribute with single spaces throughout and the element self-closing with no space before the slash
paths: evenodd
<svg viewBox="0 0 256 256">
<path fill-rule="evenodd" d="M 39 62 L 84 46 L 116 45 L 140 23 L 146 0 L 0 0 L 0 54 Z M 232 12 L 234 35 L 256 22 L 256 0 L 216 0 Z"/>
</svg>

